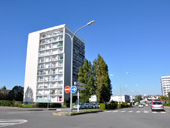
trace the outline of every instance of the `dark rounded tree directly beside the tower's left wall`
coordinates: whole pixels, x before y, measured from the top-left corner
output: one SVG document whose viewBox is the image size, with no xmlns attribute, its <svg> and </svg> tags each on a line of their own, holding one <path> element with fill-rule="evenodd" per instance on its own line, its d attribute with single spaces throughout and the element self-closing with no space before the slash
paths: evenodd
<svg viewBox="0 0 170 128">
<path fill-rule="evenodd" d="M 23 101 L 24 88 L 15 86 L 8 94 L 8 100 Z"/>
</svg>

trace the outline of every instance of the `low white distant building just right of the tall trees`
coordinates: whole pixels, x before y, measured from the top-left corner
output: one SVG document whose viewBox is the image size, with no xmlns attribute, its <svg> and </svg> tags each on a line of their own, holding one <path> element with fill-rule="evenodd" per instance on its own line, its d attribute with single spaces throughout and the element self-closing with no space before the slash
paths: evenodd
<svg viewBox="0 0 170 128">
<path fill-rule="evenodd" d="M 117 96 L 111 96 L 111 101 L 117 101 L 117 102 L 130 102 L 130 96 L 129 95 L 117 95 Z"/>
</svg>

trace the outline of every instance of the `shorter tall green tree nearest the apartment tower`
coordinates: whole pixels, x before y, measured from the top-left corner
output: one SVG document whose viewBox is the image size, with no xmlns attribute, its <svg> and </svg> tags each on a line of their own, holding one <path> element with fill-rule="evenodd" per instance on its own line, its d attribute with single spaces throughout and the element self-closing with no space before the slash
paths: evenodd
<svg viewBox="0 0 170 128">
<path fill-rule="evenodd" d="M 92 73 L 92 64 L 87 59 L 85 59 L 83 66 L 79 67 L 78 82 L 85 84 L 85 90 L 80 91 L 81 99 L 85 103 L 89 102 L 90 96 L 95 92 L 95 87 Z"/>
</svg>

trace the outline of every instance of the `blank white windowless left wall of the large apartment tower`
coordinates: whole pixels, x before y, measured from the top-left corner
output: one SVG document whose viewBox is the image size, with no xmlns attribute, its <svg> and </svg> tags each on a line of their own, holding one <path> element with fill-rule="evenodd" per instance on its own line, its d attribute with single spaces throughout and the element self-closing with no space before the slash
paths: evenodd
<svg viewBox="0 0 170 128">
<path fill-rule="evenodd" d="M 30 33 L 25 67 L 24 102 L 35 102 L 36 100 L 38 48 L 39 33 Z"/>
</svg>

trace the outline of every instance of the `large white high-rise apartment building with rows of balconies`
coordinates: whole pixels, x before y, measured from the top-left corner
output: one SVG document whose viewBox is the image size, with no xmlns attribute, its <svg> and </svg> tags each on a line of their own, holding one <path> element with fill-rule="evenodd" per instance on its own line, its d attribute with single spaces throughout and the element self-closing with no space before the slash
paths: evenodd
<svg viewBox="0 0 170 128">
<path fill-rule="evenodd" d="M 64 103 L 70 95 L 71 39 L 73 31 L 64 25 L 32 32 L 28 36 L 25 68 L 24 102 Z M 69 36 L 70 35 L 70 36 Z M 73 82 L 85 59 L 84 40 L 73 42 Z"/>
</svg>

